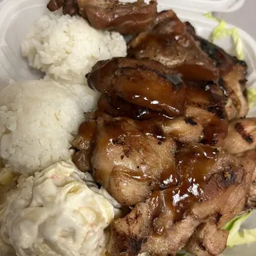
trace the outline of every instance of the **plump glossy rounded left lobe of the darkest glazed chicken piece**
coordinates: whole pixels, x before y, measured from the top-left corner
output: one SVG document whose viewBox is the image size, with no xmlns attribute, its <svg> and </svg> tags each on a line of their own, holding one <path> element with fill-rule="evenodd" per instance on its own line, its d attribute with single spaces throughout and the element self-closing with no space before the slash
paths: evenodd
<svg viewBox="0 0 256 256">
<path fill-rule="evenodd" d="M 183 115 L 186 85 L 172 71 L 169 75 L 159 73 L 154 65 L 148 68 L 140 61 L 133 67 L 129 59 L 116 58 L 98 62 L 87 77 L 89 86 L 108 97 L 115 95 L 167 116 Z"/>
</svg>

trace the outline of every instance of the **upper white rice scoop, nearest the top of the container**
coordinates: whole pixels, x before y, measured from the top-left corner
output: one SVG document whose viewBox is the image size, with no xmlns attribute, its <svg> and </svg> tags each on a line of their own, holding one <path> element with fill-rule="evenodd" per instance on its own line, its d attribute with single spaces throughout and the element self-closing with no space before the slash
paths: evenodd
<svg viewBox="0 0 256 256">
<path fill-rule="evenodd" d="M 21 50 L 50 78 L 86 83 L 85 74 L 98 60 L 126 56 L 126 41 L 119 33 L 97 31 L 82 17 L 49 12 L 31 27 Z"/>
</svg>

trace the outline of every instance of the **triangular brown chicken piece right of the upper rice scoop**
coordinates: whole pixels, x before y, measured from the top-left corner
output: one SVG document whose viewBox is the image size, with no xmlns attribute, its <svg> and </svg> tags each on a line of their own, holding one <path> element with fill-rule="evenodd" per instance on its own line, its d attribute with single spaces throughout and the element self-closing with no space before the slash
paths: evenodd
<svg viewBox="0 0 256 256">
<path fill-rule="evenodd" d="M 173 11 L 160 12 L 154 26 L 130 41 L 128 55 L 154 59 L 193 80 L 217 80 L 214 61 L 197 45 Z"/>
</svg>

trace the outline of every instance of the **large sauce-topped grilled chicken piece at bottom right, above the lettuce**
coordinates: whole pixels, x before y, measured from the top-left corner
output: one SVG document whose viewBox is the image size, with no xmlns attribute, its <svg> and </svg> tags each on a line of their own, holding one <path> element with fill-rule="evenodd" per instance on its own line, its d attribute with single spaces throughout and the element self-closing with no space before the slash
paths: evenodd
<svg viewBox="0 0 256 256">
<path fill-rule="evenodd" d="M 221 149 L 179 145 L 175 154 L 177 186 L 153 192 L 111 227 L 111 255 L 175 255 L 188 244 L 195 252 L 220 253 L 227 235 L 219 229 L 244 208 L 254 167 Z M 197 232 L 194 234 L 194 231 Z M 211 235 L 214 235 L 211 237 Z M 220 250 L 213 243 L 221 235 Z"/>
</svg>

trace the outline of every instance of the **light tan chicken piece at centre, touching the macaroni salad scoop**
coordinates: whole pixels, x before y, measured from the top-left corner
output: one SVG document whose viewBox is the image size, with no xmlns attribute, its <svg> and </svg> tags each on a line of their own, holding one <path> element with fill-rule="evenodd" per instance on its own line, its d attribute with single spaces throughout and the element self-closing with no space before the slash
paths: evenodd
<svg viewBox="0 0 256 256">
<path fill-rule="evenodd" d="M 98 117 L 85 121 L 73 140 L 73 162 L 122 205 L 145 201 L 155 189 L 178 182 L 176 140 L 198 142 L 203 128 L 192 119 L 133 121 Z"/>
</svg>

